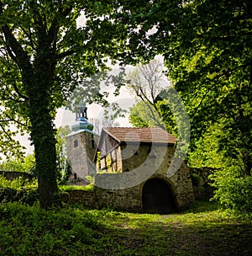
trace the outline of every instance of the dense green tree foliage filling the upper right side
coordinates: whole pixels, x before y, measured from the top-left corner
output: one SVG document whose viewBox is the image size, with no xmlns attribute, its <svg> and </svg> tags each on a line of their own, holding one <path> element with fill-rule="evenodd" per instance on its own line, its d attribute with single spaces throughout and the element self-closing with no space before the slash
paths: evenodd
<svg viewBox="0 0 252 256">
<path fill-rule="evenodd" d="M 250 175 L 251 1 L 156 1 L 143 4 L 141 13 L 135 16 L 142 25 L 133 41 L 144 44 L 149 56 L 164 56 L 191 117 L 194 141 L 222 122 L 218 147 L 240 158 L 244 175 Z M 152 34 L 138 37 L 150 29 Z"/>
</svg>

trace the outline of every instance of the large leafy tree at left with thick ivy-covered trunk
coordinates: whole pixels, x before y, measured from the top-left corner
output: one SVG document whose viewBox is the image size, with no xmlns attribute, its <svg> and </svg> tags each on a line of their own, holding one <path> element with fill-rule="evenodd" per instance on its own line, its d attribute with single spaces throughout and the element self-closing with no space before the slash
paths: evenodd
<svg viewBox="0 0 252 256">
<path fill-rule="evenodd" d="M 0 1 L 2 134 L 10 140 L 10 122 L 30 131 L 43 208 L 57 192 L 55 109 L 108 56 L 133 59 L 126 38 L 134 26 L 122 10 L 117 1 Z"/>
</svg>

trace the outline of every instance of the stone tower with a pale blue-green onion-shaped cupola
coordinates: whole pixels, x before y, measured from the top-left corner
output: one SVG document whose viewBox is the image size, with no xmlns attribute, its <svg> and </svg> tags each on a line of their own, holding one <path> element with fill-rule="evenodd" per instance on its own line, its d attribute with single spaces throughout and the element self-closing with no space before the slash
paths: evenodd
<svg viewBox="0 0 252 256">
<path fill-rule="evenodd" d="M 71 125 L 71 133 L 66 136 L 67 160 L 71 165 L 70 180 L 83 181 L 96 172 L 94 158 L 99 136 L 92 131 L 93 125 L 87 121 L 87 107 L 80 104 L 76 111 L 76 123 Z"/>
</svg>

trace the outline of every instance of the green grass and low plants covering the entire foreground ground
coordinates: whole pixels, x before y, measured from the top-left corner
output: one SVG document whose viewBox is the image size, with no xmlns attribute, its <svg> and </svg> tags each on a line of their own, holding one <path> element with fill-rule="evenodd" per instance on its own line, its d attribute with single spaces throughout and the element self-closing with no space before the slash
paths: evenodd
<svg viewBox="0 0 252 256">
<path fill-rule="evenodd" d="M 252 218 L 197 202 L 173 215 L 0 205 L 0 255 L 251 255 Z"/>
</svg>

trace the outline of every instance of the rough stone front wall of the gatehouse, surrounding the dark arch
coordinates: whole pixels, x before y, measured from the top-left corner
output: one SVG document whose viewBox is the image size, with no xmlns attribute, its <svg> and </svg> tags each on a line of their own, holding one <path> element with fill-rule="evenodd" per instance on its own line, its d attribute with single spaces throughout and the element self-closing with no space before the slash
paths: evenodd
<svg viewBox="0 0 252 256">
<path fill-rule="evenodd" d="M 177 210 L 194 202 L 190 172 L 184 162 L 174 157 L 176 148 L 155 143 L 140 147 L 128 144 L 121 151 L 123 173 L 96 174 L 92 192 L 69 191 L 67 200 L 98 209 L 142 212 L 144 184 L 159 179 L 171 190 Z"/>
</svg>

